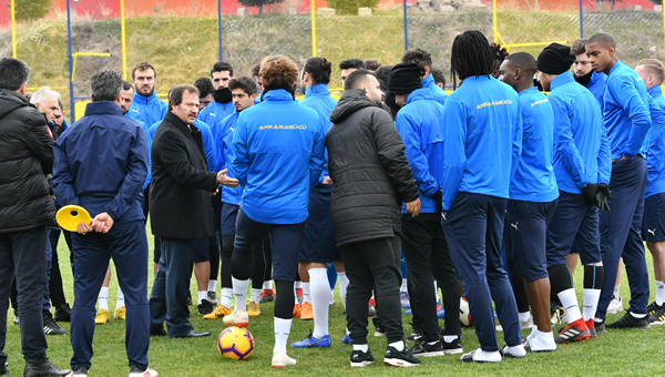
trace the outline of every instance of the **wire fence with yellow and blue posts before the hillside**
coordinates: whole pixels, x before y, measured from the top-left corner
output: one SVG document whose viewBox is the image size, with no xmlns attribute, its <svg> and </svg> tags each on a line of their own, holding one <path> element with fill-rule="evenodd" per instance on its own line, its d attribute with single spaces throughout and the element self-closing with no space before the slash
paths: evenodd
<svg viewBox="0 0 665 377">
<path fill-rule="evenodd" d="M 337 64 L 344 59 L 395 64 L 405 49 L 417 47 L 449 78 L 452 40 L 467 29 L 534 55 L 553 41 L 608 32 L 620 59 L 632 65 L 662 58 L 665 48 L 662 7 L 648 0 L 6 1 L 0 55 L 28 62 L 30 86 L 60 90 L 68 110 L 88 99 L 94 72 L 112 69 L 131 80 L 132 67 L 143 60 L 155 65 L 163 96 L 174 84 L 208 77 L 218 60 L 248 74 L 277 53 L 299 64 L 311 55 L 332 61 L 331 88 L 341 85 Z"/>
</svg>

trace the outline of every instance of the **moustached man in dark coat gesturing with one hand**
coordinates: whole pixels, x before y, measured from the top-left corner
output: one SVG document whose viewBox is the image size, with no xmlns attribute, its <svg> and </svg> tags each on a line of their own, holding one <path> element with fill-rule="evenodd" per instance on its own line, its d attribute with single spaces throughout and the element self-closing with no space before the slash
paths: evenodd
<svg viewBox="0 0 665 377">
<path fill-rule="evenodd" d="M 218 185 L 237 187 L 226 171 L 208 172 L 198 114 L 198 90 L 176 85 L 168 98 L 168 113 L 152 143 L 150 211 L 153 234 L 162 240 L 162 256 L 150 297 L 151 335 L 201 337 L 190 323 L 187 292 L 195 238 L 214 235 L 209 195 Z M 167 332 L 163 323 L 166 322 Z"/>
</svg>

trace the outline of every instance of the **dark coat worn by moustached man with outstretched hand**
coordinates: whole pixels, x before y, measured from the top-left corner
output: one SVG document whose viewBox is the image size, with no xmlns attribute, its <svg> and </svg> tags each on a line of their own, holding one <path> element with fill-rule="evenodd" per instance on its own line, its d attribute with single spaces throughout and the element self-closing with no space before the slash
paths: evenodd
<svg viewBox="0 0 665 377">
<path fill-rule="evenodd" d="M 202 238 L 215 234 L 211 192 L 217 174 L 207 171 L 201 131 L 168 112 L 152 143 L 150 220 L 154 235 Z"/>
</svg>

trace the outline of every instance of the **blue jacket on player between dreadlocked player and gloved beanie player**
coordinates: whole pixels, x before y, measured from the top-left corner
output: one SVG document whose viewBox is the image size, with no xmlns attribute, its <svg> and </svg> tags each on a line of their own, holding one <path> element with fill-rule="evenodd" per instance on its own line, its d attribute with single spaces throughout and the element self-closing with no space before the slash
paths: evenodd
<svg viewBox="0 0 665 377">
<path fill-rule="evenodd" d="M 522 111 L 522 155 L 510 181 L 510 198 L 546 203 L 559 197 L 552 167 L 554 113 L 538 88 L 520 92 Z"/>
</svg>

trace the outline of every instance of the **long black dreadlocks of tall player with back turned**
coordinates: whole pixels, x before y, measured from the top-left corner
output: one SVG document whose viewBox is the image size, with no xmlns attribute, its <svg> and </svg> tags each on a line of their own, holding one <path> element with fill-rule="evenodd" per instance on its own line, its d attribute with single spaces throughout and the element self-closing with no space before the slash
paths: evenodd
<svg viewBox="0 0 665 377">
<path fill-rule="evenodd" d="M 488 39 L 480 31 L 467 30 L 454 38 L 450 55 L 450 73 L 454 89 L 458 79 L 463 81 L 472 75 L 489 75 L 493 67 L 494 53 Z"/>
</svg>

